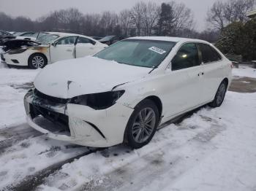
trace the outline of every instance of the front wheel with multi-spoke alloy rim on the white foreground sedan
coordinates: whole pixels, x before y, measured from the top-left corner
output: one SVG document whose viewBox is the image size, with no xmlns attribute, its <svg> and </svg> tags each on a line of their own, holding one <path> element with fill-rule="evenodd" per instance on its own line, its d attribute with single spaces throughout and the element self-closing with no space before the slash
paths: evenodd
<svg viewBox="0 0 256 191">
<path fill-rule="evenodd" d="M 141 101 L 135 107 L 127 123 L 124 143 L 138 149 L 151 141 L 159 123 L 159 112 L 156 104 L 151 100 Z"/>
</svg>

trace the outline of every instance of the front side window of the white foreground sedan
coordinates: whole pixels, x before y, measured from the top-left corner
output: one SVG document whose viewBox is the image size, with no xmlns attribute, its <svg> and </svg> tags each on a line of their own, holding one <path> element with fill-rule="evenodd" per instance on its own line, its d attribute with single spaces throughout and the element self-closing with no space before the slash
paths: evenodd
<svg viewBox="0 0 256 191">
<path fill-rule="evenodd" d="M 172 70 L 187 69 L 199 66 L 197 45 L 194 43 L 184 44 L 172 60 Z"/>
</svg>

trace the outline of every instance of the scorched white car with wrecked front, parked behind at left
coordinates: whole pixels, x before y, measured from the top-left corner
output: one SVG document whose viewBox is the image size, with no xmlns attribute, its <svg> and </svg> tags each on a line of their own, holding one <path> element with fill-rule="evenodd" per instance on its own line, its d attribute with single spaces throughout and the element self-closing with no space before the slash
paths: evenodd
<svg viewBox="0 0 256 191">
<path fill-rule="evenodd" d="M 89 36 L 53 32 L 41 36 L 38 42 L 12 39 L 5 44 L 2 61 L 8 65 L 29 66 L 31 69 L 43 68 L 56 61 L 94 55 L 108 47 Z"/>
</svg>

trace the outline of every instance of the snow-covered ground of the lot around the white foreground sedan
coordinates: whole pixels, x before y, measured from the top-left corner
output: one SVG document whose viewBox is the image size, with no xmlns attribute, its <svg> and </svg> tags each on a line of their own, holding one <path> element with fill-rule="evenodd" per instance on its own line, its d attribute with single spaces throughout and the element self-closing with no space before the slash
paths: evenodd
<svg viewBox="0 0 256 191">
<path fill-rule="evenodd" d="M 0 64 L 0 190 L 256 190 L 256 93 L 227 92 L 141 149 L 93 152 L 26 125 L 23 95 L 38 72 Z"/>
</svg>

